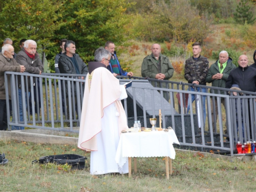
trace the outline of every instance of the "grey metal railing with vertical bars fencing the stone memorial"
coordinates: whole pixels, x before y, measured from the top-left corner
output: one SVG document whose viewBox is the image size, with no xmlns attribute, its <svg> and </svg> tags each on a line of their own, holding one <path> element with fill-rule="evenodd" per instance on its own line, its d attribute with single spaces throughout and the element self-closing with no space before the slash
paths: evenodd
<svg viewBox="0 0 256 192">
<path fill-rule="evenodd" d="M 86 75 L 6 72 L 6 99 L 12 100 L 11 106 L 7 102 L 8 117 L 12 111 L 11 118 L 8 119 L 8 130 L 12 127 L 31 127 L 78 133 L 78 130 L 73 128 L 79 126 L 81 119 L 85 82 L 82 77 L 85 79 Z M 172 126 L 182 145 L 230 151 L 233 155 L 237 141 L 256 139 L 256 93 L 236 91 L 243 93 L 243 96 L 233 96 L 232 92 L 228 94 L 231 90 L 224 88 L 150 78 L 145 80 L 141 77 L 118 78 L 120 82 L 130 79 L 133 81 L 133 86 L 127 90 L 129 97 L 123 101 L 129 126 L 134 120 L 141 120 L 142 126 L 150 126 L 148 118 L 159 117 L 157 111 L 161 109 L 162 127 Z M 147 86 L 144 86 L 145 83 Z M 154 87 L 148 86 L 149 83 Z M 190 91 L 191 86 L 199 88 L 199 92 Z M 202 89 L 205 89 L 206 93 L 201 92 Z M 209 93 L 209 89 L 217 90 L 217 94 Z M 221 92 L 223 94 L 220 94 Z M 193 95 L 198 96 L 198 102 L 192 102 Z M 212 102 L 215 99 L 216 103 Z M 190 106 L 190 113 L 187 113 L 187 104 Z M 215 110 L 211 114 L 212 108 L 216 108 L 218 114 Z M 24 119 L 20 119 L 20 111 Z M 202 125 L 201 129 L 198 129 L 199 124 Z M 227 133 L 224 132 L 225 125 Z M 228 146 L 225 138 L 231 141 Z"/>
</svg>

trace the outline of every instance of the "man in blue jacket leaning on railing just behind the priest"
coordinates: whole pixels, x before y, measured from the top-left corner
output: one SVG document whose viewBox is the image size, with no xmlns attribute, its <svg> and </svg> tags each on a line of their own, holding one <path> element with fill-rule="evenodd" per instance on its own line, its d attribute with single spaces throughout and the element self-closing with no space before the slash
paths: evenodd
<svg viewBox="0 0 256 192">
<path fill-rule="evenodd" d="M 112 41 L 106 41 L 105 43 L 105 49 L 108 50 L 111 53 L 110 58 L 110 65 L 107 67 L 108 70 L 113 73 L 113 75 L 116 77 L 117 75 L 127 75 L 127 76 L 133 76 L 133 72 L 126 72 L 123 71 L 123 69 L 120 66 L 119 60 L 116 56 L 115 52 L 115 44 Z"/>
</svg>

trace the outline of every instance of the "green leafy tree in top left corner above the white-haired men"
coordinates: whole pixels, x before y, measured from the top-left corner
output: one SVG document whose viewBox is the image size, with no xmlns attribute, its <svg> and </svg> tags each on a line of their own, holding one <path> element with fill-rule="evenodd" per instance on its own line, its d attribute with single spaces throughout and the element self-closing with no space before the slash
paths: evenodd
<svg viewBox="0 0 256 192">
<path fill-rule="evenodd" d="M 51 38 L 62 25 L 63 1 L 51 0 L 6 0 L 0 7 L 0 39 L 6 37 L 14 41 L 15 50 L 22 38 L 37 41 L 38 49 L 47 51 L 54 45 Z"/>
</svg>

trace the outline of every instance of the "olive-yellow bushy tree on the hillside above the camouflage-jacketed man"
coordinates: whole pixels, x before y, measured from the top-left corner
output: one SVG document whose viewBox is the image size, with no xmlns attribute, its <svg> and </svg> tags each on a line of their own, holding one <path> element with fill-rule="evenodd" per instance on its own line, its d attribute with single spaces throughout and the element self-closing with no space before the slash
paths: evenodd
<svg viewBox="0 0 256 192">
<path fill-rule="evenodd" d="M 211 19 L 199 15 L 199 11 L 187 3 L 187 0 L 160 1 L 155 9 L 160 21 L 174 40 L 188 42 L 191 39 L 201 41 L 208 35 Z"/>
</svg>

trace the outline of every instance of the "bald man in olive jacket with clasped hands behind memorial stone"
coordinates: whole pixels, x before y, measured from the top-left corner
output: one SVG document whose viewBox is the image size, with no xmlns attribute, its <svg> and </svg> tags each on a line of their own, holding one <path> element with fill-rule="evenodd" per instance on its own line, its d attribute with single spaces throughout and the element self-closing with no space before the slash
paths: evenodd
<svg viewBox="0 0 256 192">
<path fill-rule="evenodd" d="M 174 68 L 168 57 L 161 54 L 161 47 L 159 44 L 153 44 L 151 47 L 152 54 L 143 59 L 141 66 L 142 77 L 149 77 L 159 80 L 168 80 L 174 74 Z M 155 86 L 155 83 L 153 83 Z M 157 84 L 160 87 L 160 84 Z M 166 88 L 166 84 L 162 84 L 162 88 Z M 164 93 L 164 98 L 168 101 L 168 94 Z"/>
</svg>

